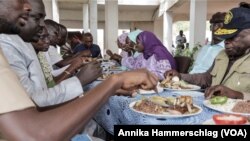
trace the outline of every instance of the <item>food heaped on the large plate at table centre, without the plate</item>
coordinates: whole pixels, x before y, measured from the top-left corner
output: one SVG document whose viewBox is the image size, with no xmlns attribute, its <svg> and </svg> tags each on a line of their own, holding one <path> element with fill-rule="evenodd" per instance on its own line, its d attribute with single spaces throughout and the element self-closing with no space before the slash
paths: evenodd
<svg viewBox="0 0 250 141">
<path fill-rule="evenodd" d="M 199 108 L 193 105 L 191 96 L 176 98 L 152 96 L 136 102 L 133 108 L 145 113 L 173 115 L 191 114 L 199 111 Z"/>
</svg>

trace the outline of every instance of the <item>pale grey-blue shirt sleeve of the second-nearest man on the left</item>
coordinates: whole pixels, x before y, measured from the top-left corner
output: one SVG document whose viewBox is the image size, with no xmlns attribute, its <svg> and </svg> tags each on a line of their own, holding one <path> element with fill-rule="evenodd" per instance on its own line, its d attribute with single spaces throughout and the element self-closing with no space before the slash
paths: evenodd
<svg viewBox="0 0 250 141">
<path fill-rule="evenodd" d="M 83 93 L 81 83 L 76 77 L 48 88 L 33 46 L 25 43 L 19 36 L 1 34 L 0 47 L 11 68 L 19 76 L 21 84 L 38 106 L 66 102 Z"/>
</svg>

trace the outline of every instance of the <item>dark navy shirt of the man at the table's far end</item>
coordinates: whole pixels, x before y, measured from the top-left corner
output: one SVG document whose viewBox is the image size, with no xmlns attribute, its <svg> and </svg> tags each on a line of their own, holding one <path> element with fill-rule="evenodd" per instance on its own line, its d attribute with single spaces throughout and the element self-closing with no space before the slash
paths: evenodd
<svg viewBox="0 0 250 141">
<path fill-rule="evenodd" d="M 78 44 L 74 50 L 73 50 L 73 53 L 78 53 L 78 52 L 81 52 L 81 51 L 84 51 L 84 50 L 90 50 L 91 54 L 92 54 L 92 57 L 93 58 L 96 58 L 96 57 L 102 57 L 102 54 L 101 54 L 101 49 L 98 45 L 96 44 L 92 44 L 91 47 L 87 47 L 86 45 L 84 44 Z"/>
</svg>

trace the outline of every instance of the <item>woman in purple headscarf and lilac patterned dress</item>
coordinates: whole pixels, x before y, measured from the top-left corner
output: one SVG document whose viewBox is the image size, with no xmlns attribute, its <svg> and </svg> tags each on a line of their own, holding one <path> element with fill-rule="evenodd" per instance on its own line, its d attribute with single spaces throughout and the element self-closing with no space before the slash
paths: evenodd
<svg viewBox="0 0 250 141">
<path fill-rule="evenodd" d="M 131 69 L 147 68 L 161 80 L 164 79 L 165 70 L 176 69 L 173 56 L 152 32 L 141 32 L 136 42 L 135 50 L 141 54 L 136 59 L 126 62 L 130 63 Z"/>
</svg>

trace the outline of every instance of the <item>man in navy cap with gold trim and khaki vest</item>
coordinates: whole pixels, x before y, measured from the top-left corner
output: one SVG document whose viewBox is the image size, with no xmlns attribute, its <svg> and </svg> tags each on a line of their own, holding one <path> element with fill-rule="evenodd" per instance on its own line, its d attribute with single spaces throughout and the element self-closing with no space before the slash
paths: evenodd
<svg viewBox="0 0 250 141">
<path fill-rule="evenodd" d="M 223 27 L 215 32 L 225 39 L 222 50 L 205 73 L 179 74 L 175 70 L 165 72 L 167 76 L 179 76 L 184 81 L 210 87 L 205 97 L 226 95 L 235 99 L 250 99 L 250 9 L 231 9 L 225 16 Z"/>
</svg>

